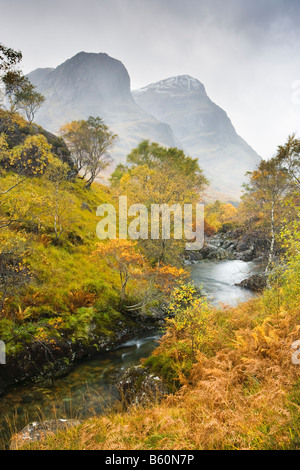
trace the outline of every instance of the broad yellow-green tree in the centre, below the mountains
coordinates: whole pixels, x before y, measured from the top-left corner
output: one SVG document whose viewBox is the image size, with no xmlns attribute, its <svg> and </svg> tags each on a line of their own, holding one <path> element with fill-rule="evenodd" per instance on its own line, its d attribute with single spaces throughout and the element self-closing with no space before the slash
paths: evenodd
<svg viewBox="0 0 300 470">
<path fill-rule="evenodd" d="M 180 208 L 199 202 L 207 184 L 197 160 L 186 156 L 182 150 L 144 141 L 128 155 L 127 163 L 128 166 L 119 165 L 112 174 L 114 188 L 128 197 L 130 205 L 143 204 L 149 214 L 153 205 L 160 209 L 156 214 L 157 230 L 151 218 L 152 224 L 148 227 L 151 236 L 141 237 L 140 247 L 153 264 L 180 264 L 180 255 L 185 249 Z M 170 236 L 166 237 L 159 236 L 164 217 L 170 218 Z M 175 233 L 175 224 L 178 233 Z"/>
</svg>

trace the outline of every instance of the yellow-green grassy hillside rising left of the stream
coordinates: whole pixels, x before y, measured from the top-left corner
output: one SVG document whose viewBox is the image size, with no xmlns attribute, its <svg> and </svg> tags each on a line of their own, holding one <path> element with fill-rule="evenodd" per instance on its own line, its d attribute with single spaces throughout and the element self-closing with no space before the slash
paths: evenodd
<svg viewBox="0 0 300 470">
<path fill-rule="evenodd" d="M 0 124 L 3 391 L 45 369 L 63 372 L 76 355 L 113 346 L 141 324 L 124 308 L 119 273 L 94 254 L 96 209 L 115 195 L 96 183 L 87 190 L 55 136 L 2 111 Z M 129 280 L 126 301 L 139 302 L 146 284 Z"/>
</svg>

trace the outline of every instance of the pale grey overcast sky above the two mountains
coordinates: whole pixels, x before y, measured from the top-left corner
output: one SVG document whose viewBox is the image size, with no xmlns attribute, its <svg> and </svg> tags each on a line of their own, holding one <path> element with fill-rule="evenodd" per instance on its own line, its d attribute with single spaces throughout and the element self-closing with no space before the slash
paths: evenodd
<svg viewBox="0 0 300 470">
<path fill-rule="evenodd" d="M 188 74 L 264 158 L 300 134 L 300 0 L 0 0 L 25 73 L 106 52 L 132 89 Z"/>
</svg>

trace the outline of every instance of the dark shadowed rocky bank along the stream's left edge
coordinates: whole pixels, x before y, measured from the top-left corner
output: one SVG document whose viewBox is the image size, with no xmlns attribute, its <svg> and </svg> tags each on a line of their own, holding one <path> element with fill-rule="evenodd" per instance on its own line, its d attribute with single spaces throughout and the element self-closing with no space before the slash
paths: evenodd
<svg viewBox="0 0 300 470">
<path fill-rule="evenodd" d="M 19 353 L 7 356 L 5 365 L 0 366 L 0 396 L 17 384 L 39 384 L 49 386 L 55 378 L 67 375 L 74 364 L 83 358 L 93 357 L 140 336 L 161 325 L 165 313 L 155 311 L 153 316 L 127 318 L 115 325 L 114 335 L 99 335 L 96 325 L 89 327 L 87 339 L 71 341 L 61 336 L 51 343 L 33 341 L 25 344 Z"/>
</svg>

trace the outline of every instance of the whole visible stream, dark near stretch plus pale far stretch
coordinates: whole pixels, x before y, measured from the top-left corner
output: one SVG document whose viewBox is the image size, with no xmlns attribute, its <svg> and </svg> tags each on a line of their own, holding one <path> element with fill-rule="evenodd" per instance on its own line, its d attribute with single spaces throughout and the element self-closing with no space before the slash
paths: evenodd
<svg viewBox="0 0 300 470">
<path fill-rule="evenodd" d="M 243 261 L 209 261 L 192 267 L 195 285 L 214 305 L 234 305 L 254 294 L 235 286 L 257 270 L 254 263 Z M 148 357 L 158 345 L 160 332 L 136 338 L 115 350 L 81 361 L 66 377 L 56 379 L 49 387 L 18 386 L 0 398 L 0 435 L 9 436 L 9 427 L 20 431 L 32 421 L 79 418 L 99 414 L 117 397 L 117 374 Z M 7 425 L 9 421 L 9 426 Z"/>
</svg>

